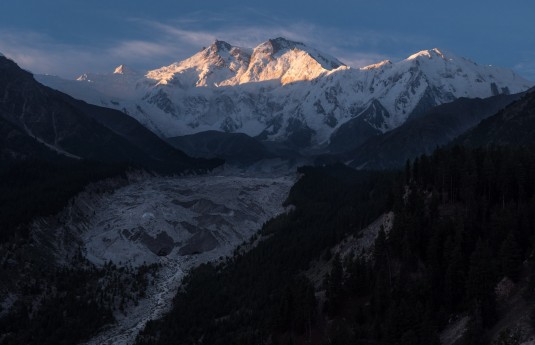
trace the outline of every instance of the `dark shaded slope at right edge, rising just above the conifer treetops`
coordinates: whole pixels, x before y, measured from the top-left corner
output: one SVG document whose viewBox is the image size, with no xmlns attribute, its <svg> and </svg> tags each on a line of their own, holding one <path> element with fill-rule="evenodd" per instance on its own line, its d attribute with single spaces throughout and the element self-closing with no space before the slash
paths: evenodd
<svg viewBox="0 0 535 345">
<path fill-rule="evenodd" d="M 535 145 L 535 90 L 472 130 L 461 135 L 455 143 L 466 146 L 533 146 Z"/>
</svg>

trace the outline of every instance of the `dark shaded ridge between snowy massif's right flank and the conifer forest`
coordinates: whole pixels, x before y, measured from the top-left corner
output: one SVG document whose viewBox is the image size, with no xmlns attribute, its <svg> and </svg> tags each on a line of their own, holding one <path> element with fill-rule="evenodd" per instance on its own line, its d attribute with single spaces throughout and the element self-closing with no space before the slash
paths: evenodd
<svg viewBox="0 0 535 345">
<path fill-rule="evenodd" d="M 459 98 L 409 119 L 398 128 L 372 137 L 360 147 L 344 153 L 344 161 L 360 169 L 396 169 L 407 159 L 431 154 L 481 120 L 496 114 L 522 94 L 499 95 L 486 99 Z"/>
</svg>

